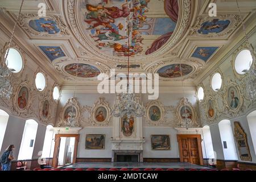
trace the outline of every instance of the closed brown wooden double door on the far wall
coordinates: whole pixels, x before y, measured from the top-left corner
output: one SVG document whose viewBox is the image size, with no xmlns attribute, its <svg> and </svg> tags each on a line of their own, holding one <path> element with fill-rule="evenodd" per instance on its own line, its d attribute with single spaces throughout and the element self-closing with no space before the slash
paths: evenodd
<svg viewBox="0 0 256 182">
<path fill-rule="evenodd" d="M 180 162 L 203 165 L 201 135 L 177 135 Z"/>
</svg>

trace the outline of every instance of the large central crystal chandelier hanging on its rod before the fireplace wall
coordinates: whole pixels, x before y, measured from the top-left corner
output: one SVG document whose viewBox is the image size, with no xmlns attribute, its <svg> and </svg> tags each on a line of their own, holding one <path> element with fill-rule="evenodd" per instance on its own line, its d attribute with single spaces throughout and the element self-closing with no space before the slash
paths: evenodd
<svg viewBox="0 0 256 182">
<path fill-rule="evenodd" d="M 144 115 L 144 106 L 139 104 L 137 96 L 132 93 L 129 85 L 129 72 L 130 72 L 130 31 L 131 23 L 128 24 L 128 75 L 127 75 L 127 92 L 118 95 L 118 101 L 112 108 L 112 114 L 114 117 L 127 116 L 128 119 L 131 117 L 142 117 Z"/>
</svg>

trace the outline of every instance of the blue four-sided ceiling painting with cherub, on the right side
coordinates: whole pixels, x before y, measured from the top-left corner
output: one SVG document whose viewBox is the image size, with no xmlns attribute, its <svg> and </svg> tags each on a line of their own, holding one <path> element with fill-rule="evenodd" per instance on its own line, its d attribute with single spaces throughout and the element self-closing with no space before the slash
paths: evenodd
<svg viewBox="0 0 256 182">
<path fill-rule="evenodd" d="M 192 57 L 199 58 L 206 62 L 217 49 L 218 47 L 197 47 Z"/>
</svg>

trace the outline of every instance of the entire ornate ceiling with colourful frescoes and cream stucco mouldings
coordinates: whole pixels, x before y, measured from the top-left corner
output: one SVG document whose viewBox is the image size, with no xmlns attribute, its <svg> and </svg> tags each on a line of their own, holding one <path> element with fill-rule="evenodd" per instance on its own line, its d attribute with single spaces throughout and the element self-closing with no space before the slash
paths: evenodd
<svg viewBox="0 0 256 182">
<path fill-rule="evenodd" d="M 5 32 L 13 26 L 18 2 L 0 2 Z M 40 2 L 47 6 L 43 17 Z M 159 73 L 162 85 L 179 80 L 195 85 L 243 36 L 236 1 L 214 1 L 216 17 L 208 14 L 210 2 L 26 0 L 15 41 L 59 84 L 72 85 L 75 77 L 96 84 L 100 73 L 125 72 L 130 56 L 131 72 Z M 255 1 L 241 3 L 248 31 L 255 26 L 255 8 Z"/>
</svg>

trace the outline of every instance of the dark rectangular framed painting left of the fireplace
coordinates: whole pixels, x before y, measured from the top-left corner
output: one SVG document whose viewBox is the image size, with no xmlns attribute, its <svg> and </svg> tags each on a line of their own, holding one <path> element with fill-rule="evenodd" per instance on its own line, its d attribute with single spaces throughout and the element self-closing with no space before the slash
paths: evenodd
<svg viewBox="0 0 256 182">
<path fill-rule="evenodd" d="M 105 149 L 105 135 L 102 135 L 102 134 L 86 135 L 85 149 L 88 149 L 88 150 L 103 150 L 103 149 Z"/>
</svg>

